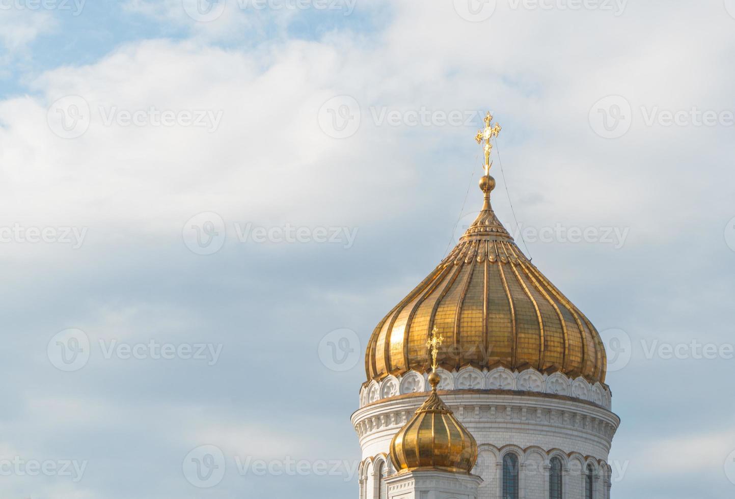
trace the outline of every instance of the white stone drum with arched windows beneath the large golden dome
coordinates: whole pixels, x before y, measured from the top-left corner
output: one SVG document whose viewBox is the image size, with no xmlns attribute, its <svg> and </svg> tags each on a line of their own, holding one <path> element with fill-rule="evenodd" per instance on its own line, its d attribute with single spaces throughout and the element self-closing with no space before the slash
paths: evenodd
<svg viewBox="0 0 735 499">
<path fill-rule="evenodd" d="M 564 499 L 585 499 L 588 465 L 593 470 L 593 497 L 609 499 L 607 459 L 620 419 L 610 411 L 606 387 L 534 370 L 467 368 L 440 371 L 440 376 L 440 390 L 447 390 L 440 391 L 442 400 L 478 443 L 473 470 L 483 479 L 478 499 L 501 499 L 503 456 L 509 452 L 520 464 L 520 499 L 548 499 L 551 459 L 556 456 L 562 460 Z M 362 389 L 361 409 L 352 416 L 362 448 L 360 499 L 389 497 L 390 440 L 423 403 L 427 386 L 426 376 L 408 373 Z"/>
</svg>

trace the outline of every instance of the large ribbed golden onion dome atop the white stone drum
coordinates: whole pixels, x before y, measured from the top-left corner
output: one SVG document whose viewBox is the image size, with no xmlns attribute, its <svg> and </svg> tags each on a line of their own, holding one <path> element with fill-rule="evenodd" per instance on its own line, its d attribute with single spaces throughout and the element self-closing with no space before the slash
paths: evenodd
<svg viewBox="0 0 735 499">
<path fill-rule="evenodd" d="M 459 243 L 373 331 L 365 356 L 368 381 L 426 373 L 424 345 L 436 327 L 449 345 L 439 359 L 446 370 L 533 368 L 604 383 L 607 360 L 595 326 L 495 216 L 492 176 L 483 176 L 480 187 L 484 206 Z"/>
</svg>

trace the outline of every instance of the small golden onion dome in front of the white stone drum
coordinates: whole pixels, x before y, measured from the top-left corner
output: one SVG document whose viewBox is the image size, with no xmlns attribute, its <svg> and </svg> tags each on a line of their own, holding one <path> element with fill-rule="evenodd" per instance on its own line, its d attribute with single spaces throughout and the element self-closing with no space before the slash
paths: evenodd
<svg viewBox="0 0 735 499">
<path fill-rule="evenodd" d="M 440 378 L 429 376 L 431 395 L 390 442 L 398 473 L 436 468 L 470 473 L 477 462 L 477 442 L 437 395 Z"/>
</svg>

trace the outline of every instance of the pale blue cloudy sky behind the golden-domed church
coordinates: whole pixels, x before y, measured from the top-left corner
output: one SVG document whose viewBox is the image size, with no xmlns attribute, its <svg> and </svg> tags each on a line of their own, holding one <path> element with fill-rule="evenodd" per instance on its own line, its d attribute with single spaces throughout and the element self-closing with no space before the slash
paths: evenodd
<svg viewBox="0 0 735 499">
<path fill-rule="evenodd" d="M 606 337 L 613 497 L 730 497 L 734 57 L 735 0 L 0 0 L 1 497 L 356 497 L 485 110 Z"/>
</svg>

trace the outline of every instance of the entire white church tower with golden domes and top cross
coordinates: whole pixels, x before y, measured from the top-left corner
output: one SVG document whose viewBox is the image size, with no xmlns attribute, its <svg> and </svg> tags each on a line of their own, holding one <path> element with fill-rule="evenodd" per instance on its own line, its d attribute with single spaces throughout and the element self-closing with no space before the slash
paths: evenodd
<svg viewBox="0 0 735 499">
<path fill-rule="evenodd" d="M 500 131 L 488 113 L 476 137 L 485 159 L 480 214 L 368 342 L 352 416 L 360 499 L 610 498 L 607 459 L 620 419 L 605 349 L 492 211 L 490 153 Z"/>
</svg>

